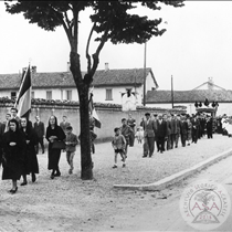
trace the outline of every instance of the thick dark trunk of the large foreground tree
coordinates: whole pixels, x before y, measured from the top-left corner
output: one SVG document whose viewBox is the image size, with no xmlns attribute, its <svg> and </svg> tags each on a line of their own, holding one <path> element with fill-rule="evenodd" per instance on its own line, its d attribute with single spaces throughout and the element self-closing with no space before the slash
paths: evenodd
<svg viewBox="0 0 232 232">
<path fill-rule="evenodd" d="M 78 54 L 71 52 L 71 72 L 73 74 L 80 101 L 80 118 L 81 118 L 81 178 L 83 180 L 93 179 L 93 162 L 91 156 L 91 134 L 89 134 L 89 116 L 88 116 L 88 84 L 83 82 L 80 66 Z"/>
</svg>

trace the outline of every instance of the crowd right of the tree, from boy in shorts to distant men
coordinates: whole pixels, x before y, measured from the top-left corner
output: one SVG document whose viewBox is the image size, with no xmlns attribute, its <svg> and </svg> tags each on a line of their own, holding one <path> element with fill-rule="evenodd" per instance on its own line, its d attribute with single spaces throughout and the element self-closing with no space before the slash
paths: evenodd
<svg viewBox="0 0 232 232">
<path fill-rule="evenodd" d="M 146 113 L 139 124 L 136 124 L 131 114 L 122 119 L 122 126 L 114 129 L 115 137 L 112 141 L 115 159 L 113 168 L 117 168 L 119 154 L 123 167 L 126 167 L 128 147 L 134 146 L 137 139 L 143 144 L 143 158 L 152 157 L 155 148 L 158 152 L 197 144 L 198 139 L 207 136 L 212 139 L 217 124 L 208 114 L 151 114 Z"/>
</svg>

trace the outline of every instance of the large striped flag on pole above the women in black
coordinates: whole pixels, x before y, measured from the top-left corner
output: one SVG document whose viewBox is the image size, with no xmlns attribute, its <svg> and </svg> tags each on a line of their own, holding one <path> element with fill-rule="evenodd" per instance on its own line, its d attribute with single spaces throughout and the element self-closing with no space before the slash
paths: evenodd
<svg viewBox="0 0 232 232">
<path fill-rule="evenodd" d="M 29 118 L 31 112 L 31 72 L 30 65 L 22 74 L 22 82 L 17 96 L 14 107 L 18 109 L 19 117 Z"/>
</svg>

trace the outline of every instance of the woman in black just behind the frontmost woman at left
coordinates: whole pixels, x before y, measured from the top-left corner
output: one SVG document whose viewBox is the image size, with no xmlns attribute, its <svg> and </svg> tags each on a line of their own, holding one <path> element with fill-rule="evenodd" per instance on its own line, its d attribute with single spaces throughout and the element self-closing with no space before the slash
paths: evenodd
<svg viewBox="0 0 232 232">
<path fill-rule="evenodd" d="M 32 123 L 30 120 L 28 120 L 25 117 L 22 117 L 20 124 L 20 130 L 24 135 L 27 143 L 24 168 L 22 173 L 23 182 L 21 183 L 21 186 L 25 186 L 28 183 L 27 175 L 31 173 L 31 180 L 32 182 L 35 182 L 35 173 L 39 173 L 38 157 L 35 151 L 35 146 L 38 145 L 39 138 L 35 130 L 32 128 Z"/>
</svg>

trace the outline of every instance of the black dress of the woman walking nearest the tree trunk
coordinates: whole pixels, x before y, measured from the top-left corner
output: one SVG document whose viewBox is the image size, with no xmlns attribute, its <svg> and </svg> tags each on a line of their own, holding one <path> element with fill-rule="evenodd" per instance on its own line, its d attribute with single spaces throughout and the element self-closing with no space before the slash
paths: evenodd
<svg viewBox="0 0 232 232">
<path fill-rule="evenodd" d="M 65 134 L 60 126 L 55 126 L 54 129 L 51 127 L 46 128 L 46 139 L 49 141 L 49 170 L 57 170 L 59 169 L 59 161 L 61 158 L 61 149 L 53 149 L 52 144 L 49 138 L 51 136 L 56 136 L 57 140 L 64 140 Z"/>
</svg>

